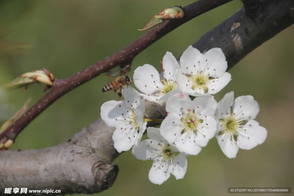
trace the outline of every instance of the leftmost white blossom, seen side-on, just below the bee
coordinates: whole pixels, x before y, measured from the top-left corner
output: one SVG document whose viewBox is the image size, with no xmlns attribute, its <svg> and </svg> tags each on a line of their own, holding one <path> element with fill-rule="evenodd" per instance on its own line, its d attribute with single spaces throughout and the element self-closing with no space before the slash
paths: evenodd
<svg viewBox="0 0 294 196">
<path fill-rule="evenodd" d="M 107 101 L 101 106 L 101 118 L 109 127 L 115 127 L 112 139 L 114 148 L 121 153 L 137 145 L 146 130 L 147 122 L 143 121 L 145 100 L 131 86 L 124 87 L 122 94 L 125 100 Z"/>
</svg>

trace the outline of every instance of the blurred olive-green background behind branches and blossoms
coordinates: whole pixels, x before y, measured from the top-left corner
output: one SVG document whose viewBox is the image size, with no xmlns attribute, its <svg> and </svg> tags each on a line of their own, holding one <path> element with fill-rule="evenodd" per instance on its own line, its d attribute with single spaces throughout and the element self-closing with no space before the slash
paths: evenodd
<svg viewBox="0 0 294 196">
<path fill-rule="evenodd" d="M 0 86 L 41 68 L 49 69 L 55 78 L 67 78 L 141 36 L 144 32 L 137 29 L 158 12 L 190 3 L 1 0 L 0 26 L 7 34 L 0 37 Z M 146 63 L 160 70 L 166 51 L 178 57 L 241 7 L 242 2 L 234 0 L 180 26 L 141 52 L 128 75 Z M 239 195 L 228 194 L 227 187 L 294 187 L 293 33 L 294 26 L 290 26 L 246 56 L 229 71 L 233 80 L 215 96 L 218 101 L 230 91 L 235 91 L 235 97 L 254 96 L 260 104 L 256 120 L 268 130 L 265 143 L 249 151 L 240 149 L 237 158 L 228 159 L 213 138 L 199 155 L 188 156 L 183 180 L 171 176 L 163 185 L 148 180 L 152 161 L 137 160 L 128 151 L 113 163 L 119 166 L 113 187 L 100 195 Z M 110 81 L 99 76 L 67 93 L 31 122 L 9 150 L 46 148 L 73 137 L 100 117 L 102 103 L 118 100 L 115 93 L 101 92 Z M 23 89 L 10 91 L 6 103 L 11 115 L 30 96 L 30 105 L 44 96 L 43 87 L 31 86 L 25 93 Z"/>
</svg>

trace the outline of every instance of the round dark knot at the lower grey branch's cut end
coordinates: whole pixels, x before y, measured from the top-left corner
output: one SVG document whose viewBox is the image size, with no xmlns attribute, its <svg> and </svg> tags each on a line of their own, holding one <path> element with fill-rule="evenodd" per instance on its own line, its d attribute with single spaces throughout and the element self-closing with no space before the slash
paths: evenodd
<svg viewBox="0 0 294 196">
<path fill-rule="evenodd" d="M 92 166 L 92 174 L 95 178 L 96 188 L 98 192 L 101 192 L 113 185 L 118 174 L 118 166 L 98 161 Z"/>
</svg>

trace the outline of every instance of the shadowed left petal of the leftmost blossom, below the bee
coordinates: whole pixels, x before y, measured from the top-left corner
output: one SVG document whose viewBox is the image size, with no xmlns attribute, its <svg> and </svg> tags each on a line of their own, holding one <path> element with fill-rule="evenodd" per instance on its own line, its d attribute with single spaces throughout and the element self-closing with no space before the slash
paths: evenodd
<svg viewBox="0 0 294 196">
<path fill-rule="evenodd" d="M 118 129 L 130 124 L 129 121 L 124 120 L 128 115 L 127 110 L 128 107 L 124 101 L 111 100 L 102 104 L 100 116 L 106 125 Z"/>
</svg>

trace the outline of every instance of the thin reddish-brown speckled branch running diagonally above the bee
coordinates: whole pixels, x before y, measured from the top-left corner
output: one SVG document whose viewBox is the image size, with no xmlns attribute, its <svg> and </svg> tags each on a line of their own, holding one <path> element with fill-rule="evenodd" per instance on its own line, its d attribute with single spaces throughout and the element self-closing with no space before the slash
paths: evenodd
<svg viewBox="0 0 294 196">
<path fill-rule="evenodd" d="M 123 63 L 133 61 L 141 51 L 146 49 L 152 43 L 165 36 L 167 33 L 176 29 L 178 26 L 187 21 L 199 16 L 209 10 L 212 10 L 220 5 L 223 5 L 232 0 L 199 0 L 183 8 L 185 16 L 178 20 L 166 21 L 156 26 L 151 31 L 148 31 L 125 48 L 104 58 L 103 60 L 93 64 L 92 66 L 79 71 L 75 75 L 64 79 L 56 79 L 51 91 L 49 91 L 43 98 L 41 98 L 35 105 L 33 105 L 24 115 L 22 115 L 15 123 L 9 126 L 4 132 L 0 134 L 0 143 L 5 143 L 7 140 L 15 140 L 17 135 L 41 112 L 54 103 L 64 94 L 72 89 L 82 85 L 83 83 L 95 78 L 111 68 L 114 68 Z M 4 148 L 3 148 L 4 149 Z M 5 150 L 5 149 L 4 149 Z"/>
</svg>

